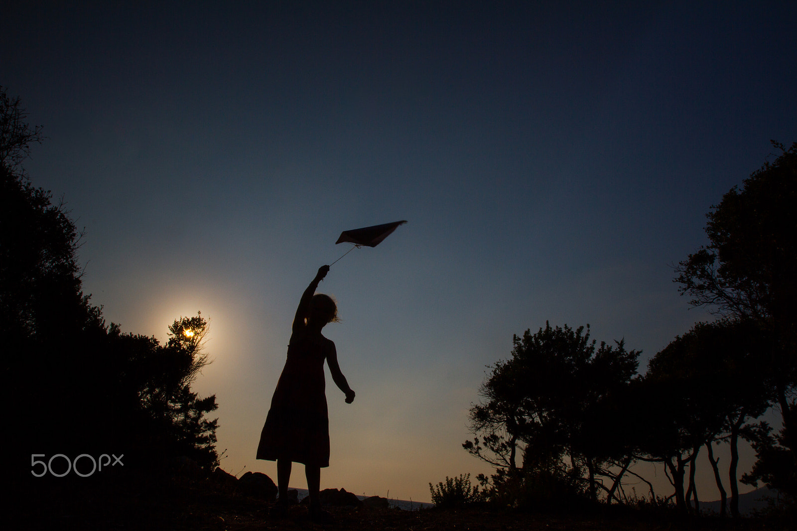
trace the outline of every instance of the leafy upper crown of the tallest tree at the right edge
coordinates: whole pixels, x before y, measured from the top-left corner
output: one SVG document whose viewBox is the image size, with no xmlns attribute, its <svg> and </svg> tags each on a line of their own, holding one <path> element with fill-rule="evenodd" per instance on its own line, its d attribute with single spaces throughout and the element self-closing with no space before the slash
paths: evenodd
<svg viewBox="0 0 797 531">
<path fill-rule="evenodd" d="M 676 270 L 692 305 L 722 317 L 795 324 L 797 143 L 733 187 L 707 214 L 709 245 Z"/>
</svg>

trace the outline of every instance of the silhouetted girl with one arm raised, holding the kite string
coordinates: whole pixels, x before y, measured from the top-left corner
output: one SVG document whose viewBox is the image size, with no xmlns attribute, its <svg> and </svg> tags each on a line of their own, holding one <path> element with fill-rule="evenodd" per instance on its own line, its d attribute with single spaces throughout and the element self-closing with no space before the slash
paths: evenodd
<svg viewBox="0 0 797 531">
<path fill-rule="evenodd" d="M 315 521 L 328 521 L 318 499 L 321 468 L 329 466 L 329 419 L 324 395 L 324 360 L 332 380 L 346 393 L 346 403 L 355 393 L 340 372 L 335 344 L 321 335 L 321 328 L 337 321 L 337 306 L 316 287 L 327 276 L 329 266 L 321 266 L 316 277 L 302 293 L 293 333 L 288 344 L 288 360 L 282 369 L 271 409 L 257 446 L 257 458 L 277 461 L 277 486 L 280 498 L 277 511 L 287 505 L 291 463 L 304 464 L 310 498 L 310 515 Z"/>
</svg>

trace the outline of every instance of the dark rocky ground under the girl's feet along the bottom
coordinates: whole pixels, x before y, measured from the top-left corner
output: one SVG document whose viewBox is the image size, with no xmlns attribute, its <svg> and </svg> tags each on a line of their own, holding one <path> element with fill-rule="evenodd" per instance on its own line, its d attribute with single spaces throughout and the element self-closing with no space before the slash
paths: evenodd
<svg viewBox="0 0 797 531">
<path fill-rule="evenodd" d="M 757 531 L 790 529 L 771 522 L 732 522 L 716 518 L 679 521 L 672 515 L 612 511 L 591 515 L 518 513 L 509 510 L 375 509 L 364 506 L 327 507 L 332 525 L 317 525 L 306 507 L 294 505 L 285 517 L 269 517 L 269 503 L 203 482 L 161 482 L 146 489 L 94 486 L 71 489 L 64 485 L 39 488 L 26 503 L 11 507 L 3 529 L 169 529 L 175 531 L 256 529 L 351 529 L 352 531 Z"/>
</svg>

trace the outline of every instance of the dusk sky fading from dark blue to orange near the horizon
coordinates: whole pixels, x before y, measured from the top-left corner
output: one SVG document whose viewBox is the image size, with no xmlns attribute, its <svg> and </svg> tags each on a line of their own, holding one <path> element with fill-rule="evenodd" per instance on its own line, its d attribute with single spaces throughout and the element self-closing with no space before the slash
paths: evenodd
<svg viewBox="0 0 797 531">
<path fill-rule="evenodd" d="M 0 84 L 49 137 L 26 167 L 107 321 L 210 318 L 194 388 L 233 474 L 276 477 L 257 441 L 342 230 L 409 221 L 320 286 L 357 391 L 328 378 L 322 488 L 429 501 L 489 471 L 461 443 L 512 334 L 589 323 L 644 370 L 705 319 L 672 265 L 797 140 L 795 2 L 76 3 L 0 2 Z"/>
</svg>

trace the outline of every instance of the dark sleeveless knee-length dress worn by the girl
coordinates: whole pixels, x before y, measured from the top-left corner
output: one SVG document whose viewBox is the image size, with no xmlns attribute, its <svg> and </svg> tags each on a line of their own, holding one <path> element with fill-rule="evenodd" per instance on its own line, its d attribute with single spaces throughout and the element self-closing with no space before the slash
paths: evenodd
<svg viewBox="0 0 797 531">
<path fill-rule="evenodd" d="M 297 337 L 298 336 L 298 337 Z M 324 395 L 324 360 L 330 342 L 294 332 L 271 409 L 257 446 L 257 458 L 329 466 L 329 419 Z"/>
</svg>

